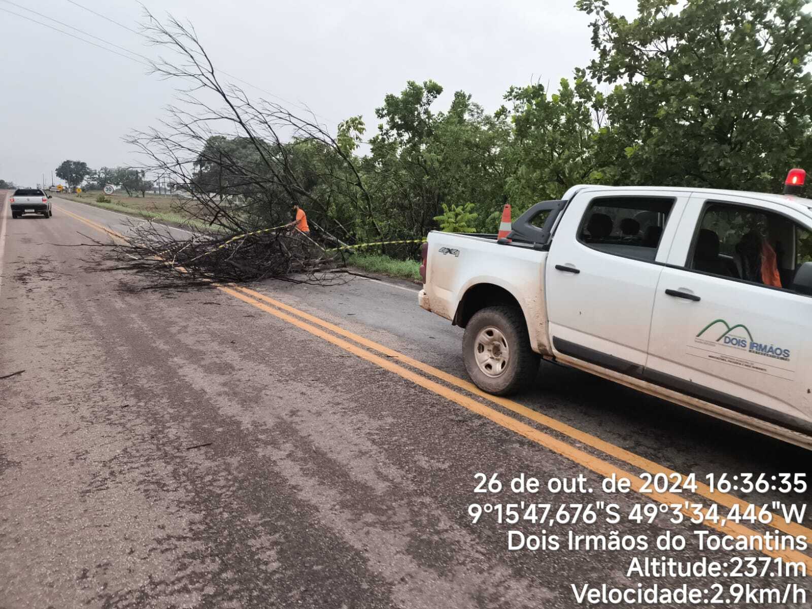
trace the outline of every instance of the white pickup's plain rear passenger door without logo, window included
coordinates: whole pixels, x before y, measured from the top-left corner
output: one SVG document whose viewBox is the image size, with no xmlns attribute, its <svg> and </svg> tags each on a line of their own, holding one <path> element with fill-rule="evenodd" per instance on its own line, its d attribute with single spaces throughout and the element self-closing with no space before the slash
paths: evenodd
<svg viewBox="0 0 812 609">
<path fill-rule="evenodd" d="M 654 293 L 688 196 L 607 189 L 570 202 L 546 263 L 556 355 L 642 374 Z"/>
</svg>

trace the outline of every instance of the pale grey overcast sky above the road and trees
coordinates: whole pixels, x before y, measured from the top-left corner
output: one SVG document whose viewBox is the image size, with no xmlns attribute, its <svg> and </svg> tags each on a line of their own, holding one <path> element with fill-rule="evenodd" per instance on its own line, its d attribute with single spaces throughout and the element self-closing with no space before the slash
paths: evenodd
<svg viewBox="0 0 812 609">
<path fill-rule="evenodd" d="M 149 55 L 153 48 L 119 25 L 70 0 L 8 0 L 0 9 Z M 136 0 L 76 0 L 137 29 Z M 189 19 L 217 67 L 290 102 L 302 102 L 329 123 L 374 110 L 407 80 L 443 85 L 438 109 L 464 89 L 495 110 L 512 84 L 556 84 L 585 66 L 588 15 L 574 0 L 145 0 L 156 15 Z M 637 2 L 613 0 L 632 16 Z M 171 102 L 171 84 L 145 67 L 0 11 L 0 178 L 33 185 L 70 158 L 89 166 L 137 162 L 121 137 L 156 125 Z M 114 49 L 119 51 L 118 49 Z M 120 52 L 120 51 L 119 51 Z M 240 84 L 240 83 L 237 83 Z M 246 91 L 268 97 L 256 89 Z"/>
</svg>

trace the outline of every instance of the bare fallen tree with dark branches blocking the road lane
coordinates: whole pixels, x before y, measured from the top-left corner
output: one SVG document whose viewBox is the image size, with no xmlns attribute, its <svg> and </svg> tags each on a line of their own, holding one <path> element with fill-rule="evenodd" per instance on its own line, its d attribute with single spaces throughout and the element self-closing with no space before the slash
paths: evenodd
<svg viewBox="0 0 812 609">
<path fill-rule="evenodd" d="M 343 244 L 331 231 L 350 234 L 331 207 L 371 207 L 348 147 L 348 138 L 358 137 L 352 122 L 334 136 L 312 112 L 302 117 L 275 102 L 253 102 L 220 80 L 191 25 L 146 17 L 146 37 L 171 57 L 154 61 L 153 73 L 185 89 L 160 128 L 133 132 L 127 141 L 144 155 L 142 171 L 171 184 L 173 206 L 193 221 L 195 234 L 133 226 L 127 241 L 106 244 L 116 268 L 172 280 L 182 269 L 187 281 L 330 280 L 319 274 L 335 262 L 326 248 Z M 329 228 L 313 222 L 318 230 L 308 235 L 286 226 L 293 205 Z"/>
</svg>

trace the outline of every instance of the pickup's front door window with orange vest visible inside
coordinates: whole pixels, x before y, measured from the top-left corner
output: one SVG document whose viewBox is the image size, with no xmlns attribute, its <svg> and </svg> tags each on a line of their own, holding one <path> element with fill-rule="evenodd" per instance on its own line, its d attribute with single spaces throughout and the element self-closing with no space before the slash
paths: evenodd
<svg viewBox="0 0 812 609">
<path fill-rule="evenodd" d="M 706 205 L 689 268 L 769 287 L 789 288 L 812 261 L 812 234 L 793 220 L 746 205 Z"/>
</svg>

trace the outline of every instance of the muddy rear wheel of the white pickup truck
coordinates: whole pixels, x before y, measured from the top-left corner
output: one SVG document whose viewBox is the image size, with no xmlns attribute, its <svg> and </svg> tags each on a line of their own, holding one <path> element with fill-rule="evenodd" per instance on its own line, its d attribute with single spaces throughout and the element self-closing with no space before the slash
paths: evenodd
<svg viewBox="0 0 812 609">
<path fill-rule="evenodd" d="M 465 369 L 474 384 L 494 395 L 510 395 L 536 377 L 539 356 L 530 348 L 520 309 L 480 309 L 465 326 L 462 340 Z"/>
</svg>

